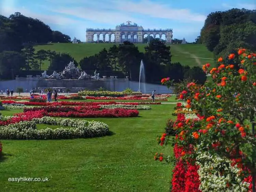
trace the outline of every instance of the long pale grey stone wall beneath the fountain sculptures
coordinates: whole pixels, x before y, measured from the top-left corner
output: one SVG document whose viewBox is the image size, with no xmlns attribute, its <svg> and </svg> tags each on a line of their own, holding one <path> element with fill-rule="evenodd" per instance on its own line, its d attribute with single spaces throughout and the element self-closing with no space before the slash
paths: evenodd
<svg viewBox="0 0 256 192">
<path fill-rule="evenodd" d="M 142 86 L 142 85 L 141 85 Z M 99 80 L 70 80 L 70 79 L 39 79 L 37 77 L 16 77 L 15 80 L 0 81 L 0 90 L 5 92 L 6 88 L 14 89 L 22 87 L 25 91 L 29 91 L 31 88 L 68 88 L 70 92 L 77 92 L 79 89 L 98 90 L 100 87 L 104 87 L 110 91 L 123 91 L 126 88 L 130 88 L 133 91 L 138 91 L 139 82 L 129 81 L 128 79 L 99 79 Z M 166 86 L 145 83 L 146 93 L 152 93 L 156 90 L 157 93 L 172 93 Z"/>
</svg>

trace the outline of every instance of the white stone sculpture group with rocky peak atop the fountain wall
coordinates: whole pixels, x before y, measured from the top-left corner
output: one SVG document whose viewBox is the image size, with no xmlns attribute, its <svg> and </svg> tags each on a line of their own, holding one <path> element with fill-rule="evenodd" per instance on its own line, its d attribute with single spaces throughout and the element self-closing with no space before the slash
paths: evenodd
<svg viewBox="0 0 256 192">
<path fill-rule="evenodd" d="M 94 75 L 88 75 L 85 71 L 80 71 L 74 64 L 74 61 L 70 61 L 67 67 L 60 72 L 53 72 L 52 75 L 47 75 L 46 71 L 42 73 L 42 79 L 94 79 L 99 80 L 100 74 L 95 70 Z"/>
</svg>

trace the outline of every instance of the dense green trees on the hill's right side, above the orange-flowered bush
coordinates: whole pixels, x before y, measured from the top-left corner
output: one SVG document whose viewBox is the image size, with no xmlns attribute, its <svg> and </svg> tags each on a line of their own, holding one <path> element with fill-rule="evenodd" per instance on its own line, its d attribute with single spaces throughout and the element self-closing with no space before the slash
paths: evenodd
<svg viewBox="0 0 256 192">
<path fill-rule="evenodd" d="M 256 50 L 255 11 L 230 9 L 207 16 L 201 30 L 201 40 L 216 56 L 230 53 L 236 47 Z"/>
</svg>

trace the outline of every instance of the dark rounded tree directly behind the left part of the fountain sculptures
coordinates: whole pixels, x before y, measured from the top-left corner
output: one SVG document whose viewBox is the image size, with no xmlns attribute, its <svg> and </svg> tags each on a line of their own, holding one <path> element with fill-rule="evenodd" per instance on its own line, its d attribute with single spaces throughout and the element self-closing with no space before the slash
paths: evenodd
<svg viewBox="0 0 256 192">
<path fill-rule="evenodd" d="M 49 66 L 48 70 L 52 71 L 62 71 L 67 67 L 70 61 L 74 61 L 74 65 L 77 66 L 78 63 L 67 53 L 57 54 L 52 59 L 52 65 Z"/>
</svg>

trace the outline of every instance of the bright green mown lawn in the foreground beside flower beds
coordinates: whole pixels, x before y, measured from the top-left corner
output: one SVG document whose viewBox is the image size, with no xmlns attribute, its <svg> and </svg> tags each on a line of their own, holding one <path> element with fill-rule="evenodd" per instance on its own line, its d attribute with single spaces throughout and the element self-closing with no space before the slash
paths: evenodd
<svg viewBox="0 0 256 192">
<path fill-rule="evenodd" d="M 167 119 L 175 118 L 173 107 L 152 105 L 136 118 L 85 118 L 107 123 L 111 136 L 1 140 L 0 191 L 168 191 L 172 165 L 154 161 L 153 156 L 156 152 L 172 155 L 171 146 L 159 147 L 156 137 Z M 48 182 L 8 182 L 11 177 L 44 176 Z"/>
</svg>

